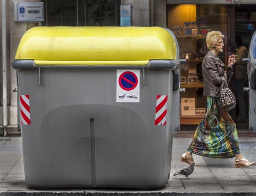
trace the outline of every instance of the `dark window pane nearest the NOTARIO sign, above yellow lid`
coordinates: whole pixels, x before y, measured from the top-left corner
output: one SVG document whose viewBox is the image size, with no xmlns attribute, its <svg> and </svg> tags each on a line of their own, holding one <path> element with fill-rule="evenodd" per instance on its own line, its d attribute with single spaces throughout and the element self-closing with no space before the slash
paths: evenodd
<svg viewBox="0 0 256 196">
<path fill-rule="evenodd" d="M 44 0 L 46 26 L 83 26 L 83 0 Z"/>
</svg>

